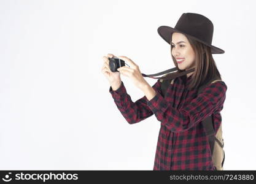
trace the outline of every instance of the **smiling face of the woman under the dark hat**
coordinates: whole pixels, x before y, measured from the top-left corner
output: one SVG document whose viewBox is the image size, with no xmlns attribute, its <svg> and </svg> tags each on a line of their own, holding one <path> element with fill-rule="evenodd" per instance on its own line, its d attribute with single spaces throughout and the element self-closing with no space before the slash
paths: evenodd
<svg viewBox="0 0 256 184">
<path fill-rule="evenodd" d="M 195 66 L 195 52 L 184 34 L 173 33 L 171 45 L 171 54 L 180 70 L 188 70 Z"/>
</svg>

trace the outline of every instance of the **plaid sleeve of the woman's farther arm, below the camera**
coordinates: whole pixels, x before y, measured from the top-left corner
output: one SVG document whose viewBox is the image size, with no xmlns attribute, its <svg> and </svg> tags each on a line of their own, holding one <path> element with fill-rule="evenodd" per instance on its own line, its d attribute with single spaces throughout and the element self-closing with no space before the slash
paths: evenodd
<svg viewBox="0 0 256 184">
<path fill-rule="evenodd" d="M 160 87 L 161 86 L 159 80 L 152 86 L 155 91 L 158 91 L 159 95 L 161 95 Z M 152 110 L 147 104 L 147 98 L 143 96 L 141 99 L 133 102 L 130 95 L 127 94 L 123 82 L 121 86 L 115 91 L 112 90 L 112 87 L 110 87 L 109 92 L 111 93 L 118 110 L 122 113 L 123 117 L 125 117 L 128 123 L 138 123 L 139 121 L 142 121 L 145 118 L 153 115 Z"/>
</svg>

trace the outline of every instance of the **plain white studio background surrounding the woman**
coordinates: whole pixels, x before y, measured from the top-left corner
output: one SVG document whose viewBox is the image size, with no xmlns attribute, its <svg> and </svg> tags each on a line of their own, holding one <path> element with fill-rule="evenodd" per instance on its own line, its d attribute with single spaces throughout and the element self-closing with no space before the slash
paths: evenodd
<svg viewBox="0 0 256 184">
<path fill-rule="evenodd" d="M 234 0 L 0 1 L 0 169 L 152 170 L 160 122 L 126 122 L 102 58 L 125 55 L 144 74 L 174 67 L 157 28 L 184 12 L 208 17 L 225 50 L 214 55 L 228 86 L 224 169 L 256 169 L 255 2 Z"/>
</svg>

